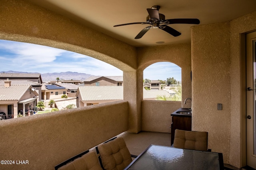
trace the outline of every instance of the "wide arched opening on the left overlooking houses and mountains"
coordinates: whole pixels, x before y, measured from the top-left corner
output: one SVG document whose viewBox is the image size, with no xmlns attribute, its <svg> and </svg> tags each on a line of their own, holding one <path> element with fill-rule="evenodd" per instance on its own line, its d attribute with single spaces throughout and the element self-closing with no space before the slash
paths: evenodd
<svg viewBox="0 0 256 170">
<path fill-rule="evenodd" d="M 86 55 L 0 40 L 0 61 L 0 120 L 123 100 L 122 70 Z"/>
</svg>

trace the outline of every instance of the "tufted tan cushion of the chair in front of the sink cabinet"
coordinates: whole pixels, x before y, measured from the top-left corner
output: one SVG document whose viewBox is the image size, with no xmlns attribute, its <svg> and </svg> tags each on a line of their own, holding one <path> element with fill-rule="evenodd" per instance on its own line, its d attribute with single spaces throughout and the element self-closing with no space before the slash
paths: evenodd
<svg viewBox="0 0 256 170">
<path fill-rule="evenodd" d="M 207 151 L 208 133 L 176 129 L 173 147 Z"/>
</svg>

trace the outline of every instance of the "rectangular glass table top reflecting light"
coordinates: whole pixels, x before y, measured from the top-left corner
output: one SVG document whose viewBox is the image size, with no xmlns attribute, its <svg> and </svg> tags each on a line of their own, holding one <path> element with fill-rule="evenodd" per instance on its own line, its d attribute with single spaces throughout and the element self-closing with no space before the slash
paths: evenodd
<svg viewBox="0 0 256 170">
<path fill-rule="evenodd" d="M 220 162 L 223 164 L 221 153 L 151 145 L 127 169 L 218 170 L 222 169 Z"/>
</svg>

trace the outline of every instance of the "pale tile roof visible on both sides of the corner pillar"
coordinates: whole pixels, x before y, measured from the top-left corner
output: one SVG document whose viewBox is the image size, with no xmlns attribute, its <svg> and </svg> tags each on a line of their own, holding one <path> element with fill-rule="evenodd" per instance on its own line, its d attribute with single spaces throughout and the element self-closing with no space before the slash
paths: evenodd
<svg viewBox="0 0 256 170">
<path fill-rule="evenodd" d="M 123 86 L 79 86 L 82 101 L 85 100 L 123 100 Z M 158 95 L 169 97 L 166 90 L 145 90 L 143 98 L 156 98 Z"/>
</svg>

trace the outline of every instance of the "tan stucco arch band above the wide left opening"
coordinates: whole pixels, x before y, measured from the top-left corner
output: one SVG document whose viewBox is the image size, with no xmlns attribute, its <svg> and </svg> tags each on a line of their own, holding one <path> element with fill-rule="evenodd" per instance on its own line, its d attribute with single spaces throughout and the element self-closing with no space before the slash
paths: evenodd
<svg viewBox="0 0 256 170">
<path fill-rule="evenodd" d="M 74 51 L 136 69 L 136 48 L 22 0 L 1 0 L 0 39 Z M 122 61 L 122 62 L 120 62 Z"/>
</svg>

